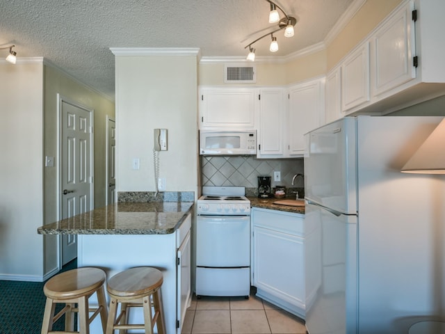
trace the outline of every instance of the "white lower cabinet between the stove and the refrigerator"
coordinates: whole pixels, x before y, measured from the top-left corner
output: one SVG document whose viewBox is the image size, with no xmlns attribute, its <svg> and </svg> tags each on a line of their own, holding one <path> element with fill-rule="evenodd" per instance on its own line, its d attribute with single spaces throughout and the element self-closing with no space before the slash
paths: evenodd
<svg viewBox="0 0 445 334">
<path fill-rule="evenodd" d="M 304 215 L 253 208 L 251 221 L 257 296 L 304 318 Z"/>
</svg>

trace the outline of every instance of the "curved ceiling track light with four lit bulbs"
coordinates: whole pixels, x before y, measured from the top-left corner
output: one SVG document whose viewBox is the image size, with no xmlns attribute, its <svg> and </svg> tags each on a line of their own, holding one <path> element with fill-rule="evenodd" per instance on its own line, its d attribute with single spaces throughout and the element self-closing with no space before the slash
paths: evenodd
<svg viewBox="0 0 445 334">
<path fill-rule="evenodd" d="M 276 33 L 277 31 L 280 31 L 280 30 L 284 30 L 284 37 L 292 37 L 294 35 L 293 26 L 296 25 L 297 19 L 295 17 L 291 17 L 291 16 L 287 15 L 286 13 L 284 13 L 284 10 L 280 6 L 278 6 L 275 2 L 273 2 L 271 0 L 266 0 L 266 1 L 268 3 L 270 3 L 269 22 L 270 23 L 278 22 L 278 27 L 277 27 L 277 29 L 270 31 L 269 33 L 266 33 L 265 35 L 262 35 L 260 38 L 257 38 L 256 40 L 254 40 L 253 42 L 251 42 L 250 44 L 248 44 L 244 47 L 244 49 L 249 48 L 249 54 L 247 57 L 248 61 L 255 60 L 255 49 L 252 47 L 252 45 L 254 43 L 258 42 L 259 40 L 261 40 L 262 38 L 265 38 L 266 36 L 270 35 L 270 38 L 272 39 L 272 41 L 270 42 L 269 50 L 271 52 L 276 52 L 276 51 L 278 51 L 278 42 L 277 42 L 277 38 L 274 37 L 274 35 L 273 35 L 274 33 Z M 277 8 L 280 9 L 282 11 L 282 13 L 284 14 L 284 17 L 282 19 L 280 19 L 280 14 L 278 13 Z"/>
</svg>

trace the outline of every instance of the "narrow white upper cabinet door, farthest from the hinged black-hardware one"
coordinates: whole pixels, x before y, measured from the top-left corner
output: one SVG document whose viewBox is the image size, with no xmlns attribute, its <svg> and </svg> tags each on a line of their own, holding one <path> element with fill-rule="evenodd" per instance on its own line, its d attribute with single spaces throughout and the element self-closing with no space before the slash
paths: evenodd
<svg viewBox="0 0 445 334">
<path fill-rule="evenodd" d="M 337 67 L 326 76 L 325 83 L 325 123 L 343 117 L 341 113 L 341 67 Z"/>
</svg>

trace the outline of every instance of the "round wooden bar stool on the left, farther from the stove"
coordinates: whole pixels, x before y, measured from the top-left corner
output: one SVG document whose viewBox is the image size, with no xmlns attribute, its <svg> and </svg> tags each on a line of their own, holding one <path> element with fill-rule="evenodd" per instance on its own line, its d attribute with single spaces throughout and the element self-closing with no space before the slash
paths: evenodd
<svg viewBox="0 0 445 334">
<path fill-rule="evenodd" d="M 90 333 L 90 323 L 100 314 L 102 328 L 105 333 L 107 308 L 105 299 L 104 283 L 106 274 L 98 268 L 78 268 L 50 278 L 43 287 L 43 292 L 47 296 L 47 303 L 44 308 L 42 334 L 48 333 L 68 333 L 74 331 L 74 312 L 79 318 L 79 332 L 81 334 Z M 92 294 L 97 293 L 98 308 L 90 309 L 88 299 Z M 54 316 L 56 303 L 65 303 L 65 307 Z M 75 307 L 77 303 L 77 308 Z M 89 312 L 93 312 L 90 317 Z M 65 314 L 65 331 L 52 331 L 53 324 Z"/>
</svg>

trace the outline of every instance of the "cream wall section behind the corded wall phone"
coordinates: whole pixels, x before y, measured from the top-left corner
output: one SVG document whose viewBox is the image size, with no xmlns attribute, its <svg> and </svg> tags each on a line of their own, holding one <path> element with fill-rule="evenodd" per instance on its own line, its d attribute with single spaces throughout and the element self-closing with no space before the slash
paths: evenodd
<svg viewBox="0 0 445 334">
<path fill-rule="evenodd" d="M 168 129 L 159 152 L 166 191 L 197 192 L 196 56 L 116 56 L 118 191 L 155 191 L 153 129 Z M 132 169 L 134 158 L 140 169 Z"/>
</svg>

